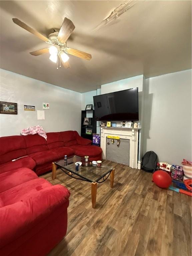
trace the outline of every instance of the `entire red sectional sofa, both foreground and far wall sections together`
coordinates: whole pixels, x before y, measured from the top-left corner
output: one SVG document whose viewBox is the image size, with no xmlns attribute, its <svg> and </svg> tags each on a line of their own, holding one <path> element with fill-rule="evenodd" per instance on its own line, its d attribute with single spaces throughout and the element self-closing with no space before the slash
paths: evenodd
<svg viewBox="0 0 192 256">
<path fill-rule="evenodd" d="M 0 255 L 45 256 L 67 232 L 70 192 L 37 175 L 64 155 L 100 160 L 76 131 L 0 138 Z"/>
</svg>

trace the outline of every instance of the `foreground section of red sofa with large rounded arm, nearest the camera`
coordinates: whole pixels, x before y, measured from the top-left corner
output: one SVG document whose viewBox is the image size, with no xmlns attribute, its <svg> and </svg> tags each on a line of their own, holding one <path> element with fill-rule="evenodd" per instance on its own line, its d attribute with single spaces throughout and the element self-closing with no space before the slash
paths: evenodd
<svg viewBox="0 0 192 256">
<path fill-rule="evenodd" d="M 0 181 L 0 255 L 45 256 L 66 235 L 70 192 L 29 168 Z"/>
</svg>

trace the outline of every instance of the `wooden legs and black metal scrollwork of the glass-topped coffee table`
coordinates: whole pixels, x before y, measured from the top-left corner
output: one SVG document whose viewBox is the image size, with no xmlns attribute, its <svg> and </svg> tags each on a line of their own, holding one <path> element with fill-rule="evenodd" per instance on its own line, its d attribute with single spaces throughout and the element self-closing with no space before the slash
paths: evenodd
<svg viewBox="0 0 192 256">
<path fill-rule="evenodd" d="M 111 188 L 113 188 L 113 183 L 114 183 L 114 176 L 115 176 L 115 169 L 112 168 L 109 170 L 107 173 L 99 177 L 97 180 L 92 181 L 88 178 L 85 178 L 81 175 L 77 175 L 75 172 L 69 171 L 68 169 L 65 169 L 63 166 L 58 165 L 56 162 L 52 163 L 52 179 L 54 180 L 56 178 L 56 170 L 57 166 L 65 172 L 67 175 L 71 176 L 74 179 L 77 180 L 83 180 L 87 182 L 91 182 L 91 201 L 92 201 L 92 208 L 95 208 L 96 205 L 96 198 L 97 198 L 97 183 L 102 183 L 104 182 L 110 175 L 110 183 L 111 183 Z M 74 176 L 73 176 L 74 175 Z M 77 177 L 76 177 L 77 176 Z M 101 181 L 101 179 L 103 180 Z"/>
</svg>

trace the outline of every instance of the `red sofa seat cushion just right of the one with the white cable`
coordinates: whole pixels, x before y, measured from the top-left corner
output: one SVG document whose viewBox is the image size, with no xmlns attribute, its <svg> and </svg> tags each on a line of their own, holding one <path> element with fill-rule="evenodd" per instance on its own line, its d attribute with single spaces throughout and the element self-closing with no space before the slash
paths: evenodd
<svg viewBox="0 0 192 256">
<path fill-rule="evenodd" d="M 51 150 L 32 153 L 29 156 L 35 160 L 37 165 L 55 162 L 59 159 L 59 156 Z"/>
</svg>

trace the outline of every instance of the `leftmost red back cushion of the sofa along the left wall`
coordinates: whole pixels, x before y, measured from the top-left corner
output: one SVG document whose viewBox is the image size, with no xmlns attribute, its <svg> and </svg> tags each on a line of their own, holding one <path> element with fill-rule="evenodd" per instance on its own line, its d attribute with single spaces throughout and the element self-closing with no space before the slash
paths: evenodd
<svg viewBox="0 0 192 256">
<path fill-rule="evenodd" d="M 22 136 L 0 137 L 0 164 L 26 155 L 25 141 Z"/>
</svg>

